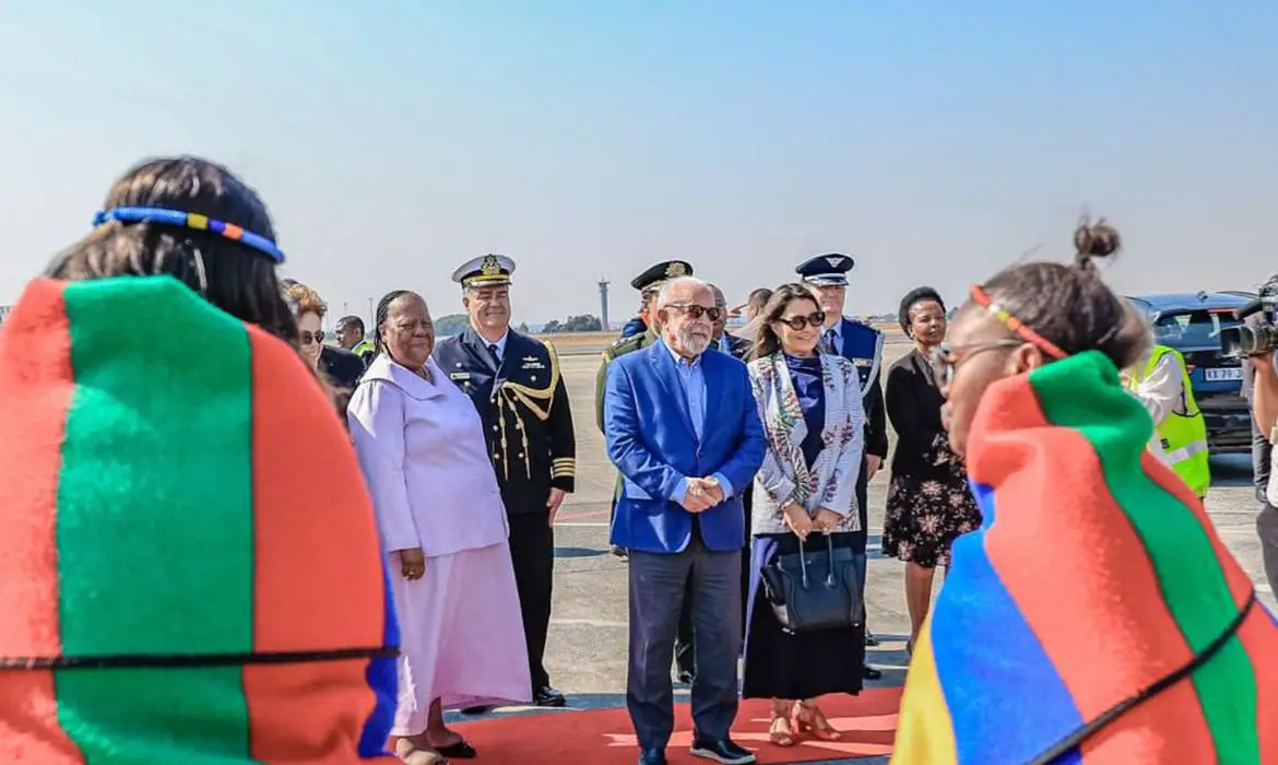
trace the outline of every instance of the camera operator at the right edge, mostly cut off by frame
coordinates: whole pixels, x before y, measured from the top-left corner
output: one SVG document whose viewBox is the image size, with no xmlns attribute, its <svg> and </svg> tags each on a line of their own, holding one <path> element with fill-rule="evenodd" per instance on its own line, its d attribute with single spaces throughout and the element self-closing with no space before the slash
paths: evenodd
<svg viewBox="0 0 1278 765">
<path fill-rule="evenodd" d="M 1249 325 L 1259 326 L 1264 320 L 1252 316 Z M 1260 551 L 1265 565 L 1265 578 L 1270 591 L 1278 594 L 1278 481 L 1270 481 L 1274 471 L 1273 441 L 1278 439 L 1278 368 L 1274 367 L 1274 353 L 1250 356 L 1243 370 L 1245 385 L 1250 393 L 1251 462 L 1255 467 L 1256 498 L 1260 500 L 1260 514 L 1256 516 L 1256 533 L 1260 536 Z"/>
</svg>

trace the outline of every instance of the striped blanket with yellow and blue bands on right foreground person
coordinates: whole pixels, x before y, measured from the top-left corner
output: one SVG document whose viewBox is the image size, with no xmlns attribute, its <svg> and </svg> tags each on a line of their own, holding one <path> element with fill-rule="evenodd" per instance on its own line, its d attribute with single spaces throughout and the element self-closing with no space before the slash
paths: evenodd
<svg viewBox="0 0 1278 765">
<path fill-rule="evenodd" d="M 1086 353 L 982 402 L 967 469 L 984 524 L 915 649 L 897 765 L 1024 764 L 1191 663 L 1252 585 L 1149 417 Z M 1278 762 L 1278 627 L 1260 605 L 1205 664 L 1056 762 Z"/>
</svg>

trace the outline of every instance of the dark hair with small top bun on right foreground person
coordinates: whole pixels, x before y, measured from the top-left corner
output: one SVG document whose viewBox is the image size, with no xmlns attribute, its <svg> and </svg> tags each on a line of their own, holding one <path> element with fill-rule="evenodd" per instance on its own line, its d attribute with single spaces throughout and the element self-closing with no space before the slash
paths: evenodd
<svg viewBox="0 0 1278 765">
<path fill-rule="evenodd" d="M 1065 353 L 1099 351 L 1118 368 L 1127 368 L 1149 348 L 1149 327 L 1102 281 L 1095 265 L 1121 247 L 1117 229 L 1104 219 L 1084 220 L 1074 232 L 1074 265 L 1010 266 L 982 289 Z"/>
</svg>

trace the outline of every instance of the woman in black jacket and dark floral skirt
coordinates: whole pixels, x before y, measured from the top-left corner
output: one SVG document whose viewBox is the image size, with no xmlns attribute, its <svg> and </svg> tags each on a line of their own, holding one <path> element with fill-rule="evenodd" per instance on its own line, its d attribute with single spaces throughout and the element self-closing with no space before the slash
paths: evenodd
<svg viewBox="0 0 1278 765">
<path fill-rule="evenodd" d="M 950 450 L 941 426 L 944 399 L 932 352 L 946 339 L 944 302 L 930 287 L 912 289 L 901 299 L 898 319 L 914 340 L 914 351 L 892 365 L 884 390 L 897 443 L 883 519 L 883 553 L 906 564 L 906 650 L 912 651 L 932 601 L 933 573 L 938 565 L 950 564 L 955 539 L 980 526 L 980 510 L 967 490 L 962 461 Z"/>
</svg>

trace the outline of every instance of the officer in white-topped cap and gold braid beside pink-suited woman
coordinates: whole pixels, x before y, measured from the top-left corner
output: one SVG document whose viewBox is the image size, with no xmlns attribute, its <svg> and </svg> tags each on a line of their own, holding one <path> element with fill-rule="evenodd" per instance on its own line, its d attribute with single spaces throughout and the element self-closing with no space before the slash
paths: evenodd
<svg viewBox="0 0 1278 765">
<path fill-rule="evenodd" d="M 435 361 L 483 420 L 510 521 L 533 701 L 564 706 L 543 659 L 555 580 L 555 514 L 574 487 L 576 438 L 555 347 L 510 329 L 514 271 L 515 262 L 505 255 L 486 255 L 452 272 L 470 326 L 436 344 Z"/>
</svg>

